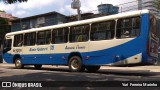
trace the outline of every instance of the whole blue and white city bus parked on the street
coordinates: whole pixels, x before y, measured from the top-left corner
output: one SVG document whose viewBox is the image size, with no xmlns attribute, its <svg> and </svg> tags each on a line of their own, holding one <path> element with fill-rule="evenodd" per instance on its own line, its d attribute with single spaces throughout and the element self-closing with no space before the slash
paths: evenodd
<svg viewBox="0 0 160 90">
<path fill-rule="evenodd" d="M 97 71 L 101 65 L 158 60 L 157 19 L 138 10 L 5 35 L 3 59 L 16 68 L 68 65 L 70 71 Z"/>
</svg>

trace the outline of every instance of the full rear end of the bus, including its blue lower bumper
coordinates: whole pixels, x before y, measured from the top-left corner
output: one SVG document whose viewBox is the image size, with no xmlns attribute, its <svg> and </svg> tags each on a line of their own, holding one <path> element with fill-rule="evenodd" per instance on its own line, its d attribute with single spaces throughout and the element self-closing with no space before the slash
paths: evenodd
<svg viewBox="0 0 160 90">
<path fill-rule="evenodd" d="M 150 15 L 150 32 L 148 38 L 147 63 L 157 64 L 158 63 L 158 22 L 155 16 Z"/>
</svg>

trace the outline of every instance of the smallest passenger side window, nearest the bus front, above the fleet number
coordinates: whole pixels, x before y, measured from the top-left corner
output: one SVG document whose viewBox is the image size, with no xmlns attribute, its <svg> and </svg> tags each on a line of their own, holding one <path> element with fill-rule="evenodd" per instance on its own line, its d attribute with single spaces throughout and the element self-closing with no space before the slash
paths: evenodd
<svg viewBox="0 0 160 90">
<path fill-rule="evenodd" d="M 21 47 L 23 45 L 23 34 L 14 36 L 14 47 Z"/>
</svg>

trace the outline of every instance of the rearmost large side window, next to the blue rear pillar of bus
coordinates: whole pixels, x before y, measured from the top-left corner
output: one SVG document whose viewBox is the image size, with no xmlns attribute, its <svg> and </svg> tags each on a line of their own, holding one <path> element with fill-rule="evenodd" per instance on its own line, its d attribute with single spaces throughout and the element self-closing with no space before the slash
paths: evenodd
<svg viewBox="0 0 160 90">
<path fill-rule="evenodd" d="M 117 38 L 133 38 L 140 34 L 140 17 L 119 19 L 117 21 Z"/>
</svg>

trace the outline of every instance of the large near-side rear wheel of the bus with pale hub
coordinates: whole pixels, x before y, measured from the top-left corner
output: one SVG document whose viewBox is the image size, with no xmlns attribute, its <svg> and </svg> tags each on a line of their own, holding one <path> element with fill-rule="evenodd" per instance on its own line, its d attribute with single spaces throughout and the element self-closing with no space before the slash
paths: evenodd
<svg viewBox="0 0 160 90">
<path fill-rule="evenodd" d="M 82 59 L 79 56 L 71 57 L 68 66 L 71 72 L 82 72 L 85 70 L 85 67 L 82 65 Z"/>
</svg>

